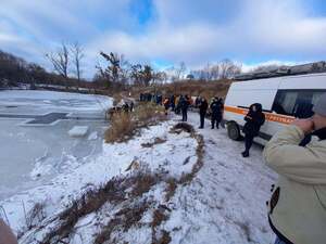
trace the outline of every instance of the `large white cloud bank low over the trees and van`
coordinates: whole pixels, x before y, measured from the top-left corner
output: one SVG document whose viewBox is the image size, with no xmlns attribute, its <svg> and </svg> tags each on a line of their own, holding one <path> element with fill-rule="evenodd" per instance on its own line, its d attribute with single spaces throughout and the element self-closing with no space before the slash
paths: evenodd
<svg viewBox="0 0 326 244">
<path fill-rule="evenodd" d="M 156 1 L 156 7 L 161 8 L 158 20 L 147 31 L 137 36 L 105 34 L 91 47 L 123 52 L 133 59 L 163 57 L 187 63 L 228 56 L 314 59 L 326 54 L 326 18 L 308 16 L 298 1 L 247 0 L 238 17 L 224 25 L 206 23 L 203 13 L 202 21 L 193 22 L 192 16 L 188 16 L 189 24 L 184 14 L 185 23 L 179 26 L 170 17 L 187 12 L 189 3 L 186 2 L 179 5 L 174 1 Z"/>
</svg>

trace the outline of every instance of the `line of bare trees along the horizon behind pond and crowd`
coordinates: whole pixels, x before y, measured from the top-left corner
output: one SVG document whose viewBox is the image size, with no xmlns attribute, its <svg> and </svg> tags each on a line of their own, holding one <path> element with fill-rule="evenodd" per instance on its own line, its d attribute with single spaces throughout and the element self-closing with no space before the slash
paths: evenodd
<svg viewBox="0 0 326 244">
<path fill-rule="evenodd" d="M 162 85 L 185 79 L 217 80 L 234 78 L 241 72 L 241 65 L 230 60 L 222 60 L 216 64 L 208 63 L 204 67 L 190 70 L 185 62 L 155 70 L 150 64 L 129 62 L 125 55 L 114 52 L 99 53 L 101 64 L 96 64 L 92 82 L 83 78 L 83 63 L 86 57 L 84 48 L 78 42 L 65 43 L 47 53 L 46 59 L 53 72 L 42 66 L 28 63 L 13 54 L 0 51 L 0 86 L 27 82 L 32 87 L 37 84 L 61 85 L 68 87 L 93 87 L 101 89 L 123 89 L 128 86 Z"/>
</svg>

